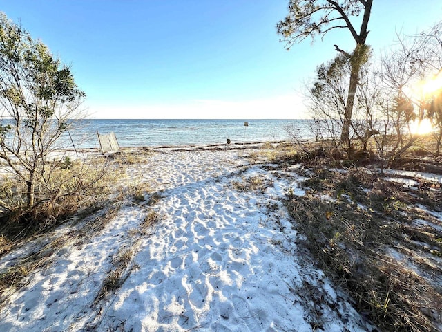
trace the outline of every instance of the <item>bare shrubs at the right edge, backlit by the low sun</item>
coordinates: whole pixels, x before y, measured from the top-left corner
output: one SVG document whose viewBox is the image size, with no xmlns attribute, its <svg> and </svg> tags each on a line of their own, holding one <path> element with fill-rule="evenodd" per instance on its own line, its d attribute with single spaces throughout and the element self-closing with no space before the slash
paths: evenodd
<svg viewBox="0 0 442 332">
<path fill-rule="evenodd" d="M 414 36 L 398 35 L 399 44 L 385 52 L 381 66 L 372 68 L 367 81 L 372 100 L 372 127 L 378 135 L 372 147 L 385 164 L 397 163 L 410 151 L 416 156 L 439 156 L 442 84 L 442 46 L 439 28 Z M 421 149 L 434 140 L 435 149 Z M 418 149 L 418 147 L 420 149 Z"/>
</svg>

